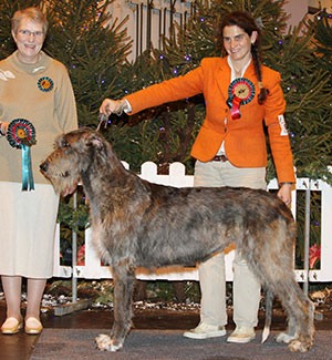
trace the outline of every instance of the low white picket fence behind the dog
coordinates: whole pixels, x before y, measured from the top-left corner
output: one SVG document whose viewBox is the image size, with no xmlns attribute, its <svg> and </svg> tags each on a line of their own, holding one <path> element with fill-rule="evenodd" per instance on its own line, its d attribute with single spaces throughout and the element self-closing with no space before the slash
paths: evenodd
<svg viewBox="0 0 332 360">
<path fill-rule="evenodd" d="M 128 165 L 124 163 L 125 167 Z M 169 175 L 158 175 L 157 165 L 147 162 L 142 165 L 141 177 L 152 183 L 162 185 L 172 185 L 176 187 L 193 186 L 194 176 L 185 174 L 185 166 L 180 163 L 174 163 L 169 167 Z M 321 192 L 321 268 L 319 270 L 297 269 L 295 275 L 299 282 L 302 281 L 332 281 L 332 187 L 323 181 L 310 182 L 308 178 L 298 178 L 295 191 L 292 192 L 292 213 L 295 217 L 297 192 L 307 191 Z M 268 189 L 277 189 L 277 181 L 268 185 Z M 226 279 L 232 280 L 232 259 L 234 248 L 226 251 Z M 85 265 L 73 267 L 60 265 L 60 227 L 56 228 L 55 251 L 54 251 L 54 277 L 73 277 L 85 279 L 112 278 L 110 267 L 102 266 L 92 243 L 91 229 L 85 232 Z M 137 269 L 136 276 L 142 280 L 198 280 L 197 267 L 168 267 L 156 271 Z"/>
</svg>

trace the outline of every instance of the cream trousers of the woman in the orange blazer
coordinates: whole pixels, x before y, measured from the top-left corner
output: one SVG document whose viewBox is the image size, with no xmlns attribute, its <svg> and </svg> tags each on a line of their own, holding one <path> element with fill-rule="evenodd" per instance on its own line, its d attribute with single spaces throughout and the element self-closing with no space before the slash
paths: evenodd
<svg viewBox="0 0 332 360">
<path fill-rule="evenodd" d="M 229 162 L 196 162 L 194 186 L 245 186 L 267 188 L 266 168 L 241 168 Z M 201 291 L 200 321 L 225 326 L 226 276 L 225 254 L 218 253 L 199 265 L 199 285 Z M 239 254 L 234 260 L 234 321 L 237 327 L 253 328 L 258 322 L 260 284 Z"/>
</svg>

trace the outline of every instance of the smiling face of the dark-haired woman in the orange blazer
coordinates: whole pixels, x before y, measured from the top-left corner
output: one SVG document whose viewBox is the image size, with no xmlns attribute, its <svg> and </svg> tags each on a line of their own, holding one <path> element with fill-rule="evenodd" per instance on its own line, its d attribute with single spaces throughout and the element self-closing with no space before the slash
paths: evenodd
<svg viewBox="0 0 332 360">
<path fill-rule="evenodd" d="M 257 32 L 252 31 L 251 37 L 237 25 L 227 25 L 222 31 L 224 47 L 232 63 L 243 66 L 251 58 L 251 44 L 257 39 Z"/>
</svg>

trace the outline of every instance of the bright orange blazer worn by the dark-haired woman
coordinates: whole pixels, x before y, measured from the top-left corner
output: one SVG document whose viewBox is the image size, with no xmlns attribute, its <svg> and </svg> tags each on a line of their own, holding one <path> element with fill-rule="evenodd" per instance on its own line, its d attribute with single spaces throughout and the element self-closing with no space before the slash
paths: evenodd
<svg viewBox="0 0 332 360">
<path fill-rule="evenodd" d="M 131 114 L 199 93 L 206 102 L 206 119 L 191 148 L 191 155 L 201 162 L 210 161 L 225 141 L 225 151 L 230 163 L 237 167 L 267 166 L 267 144 L 263 121 L 268 126 L 269 141 L 279 183 L 294 182 L 292 153 L 283 123 L 286 102 L 280 86 L 280 74 L 262 66 L 262 84 L 269 95 L 262 105 L 258 103 L 258 80 L 252 61 L 243 78 L 255 88 L 252 100 L 240 105 L 239 119 L 232 119 L 227 100 L 231 70 L 227 58 L 206 58 L 200 66 L 184 76 L 125 96 L 132 106 Z M 227 119 L 227 122 L 225 122 Z"/>
</svg>

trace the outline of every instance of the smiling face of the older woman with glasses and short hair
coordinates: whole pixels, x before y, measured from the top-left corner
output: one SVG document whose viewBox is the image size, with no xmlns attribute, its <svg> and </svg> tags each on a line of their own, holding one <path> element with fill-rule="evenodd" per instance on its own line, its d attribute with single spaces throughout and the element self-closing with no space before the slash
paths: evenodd
<svg viewBox="0 0 332 360">
<path fill-rule="evenodd" d="M 12 30 L 11 34 L 18 47 L 19 59 L 25 63 L 38 62 L 45 39 L 42 23 L 22 18 L 17 31 Z"/>
</svg>

